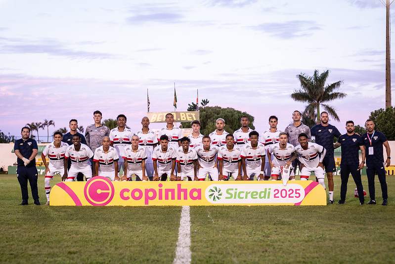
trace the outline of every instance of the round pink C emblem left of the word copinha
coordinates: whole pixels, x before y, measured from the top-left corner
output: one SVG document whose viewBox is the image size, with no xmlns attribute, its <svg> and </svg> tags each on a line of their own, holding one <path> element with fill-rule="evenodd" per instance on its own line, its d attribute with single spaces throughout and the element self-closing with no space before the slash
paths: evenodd
<svg viewBox="0 0 395 264">
<path fill-rule="evenodd" d="M 114 198 L 114 185 L 106 177 L 96 176 L 85 184 L 84 195 L 88 203 L 95 206 L 104 206 Z"/>
</svg>

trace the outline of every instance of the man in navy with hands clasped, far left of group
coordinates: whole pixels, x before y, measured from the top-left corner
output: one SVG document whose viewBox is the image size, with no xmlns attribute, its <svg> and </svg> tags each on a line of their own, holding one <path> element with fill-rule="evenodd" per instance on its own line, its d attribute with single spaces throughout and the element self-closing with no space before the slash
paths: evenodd
<svg viewBox="0 0 395 264">
<path fill-rule="evenodd" d="M 39 152 L 36 140 L 30 138 L 30 128 L 23 127 L 22 138 L 15 141 L 14 151 L 17 158 L 18 167 L 16 176 L 22 191 L 22 203 L 28 204 L 27 182 L 29 180 L 35 205 L 41 205 L 39 201 L 39 191 L 37 188 L 38 172 L 36 169 L 36 155 Z"/>
</svg>

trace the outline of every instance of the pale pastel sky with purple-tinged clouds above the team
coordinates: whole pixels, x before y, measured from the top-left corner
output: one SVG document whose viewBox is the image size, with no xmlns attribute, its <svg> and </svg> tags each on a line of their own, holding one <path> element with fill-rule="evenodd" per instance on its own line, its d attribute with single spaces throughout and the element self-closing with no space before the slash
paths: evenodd
<svg viewBox="0 0 395 264">
<path fill-rule="evenodd" d="M 385 106 L 385 6 L 380 0 L 0 0 L 2 132 L 76 118 L 85 128 L 147 111 L 177 111 L 207 98 L 279 129 L 304 104 L 296 75 L 329 69 L 348 96 L 332 105 L 362 125 Z M 164 124 L 151 124 L 160 128 Z M 46 135 L 46 131 L 40 131 Z"/>
</svg>

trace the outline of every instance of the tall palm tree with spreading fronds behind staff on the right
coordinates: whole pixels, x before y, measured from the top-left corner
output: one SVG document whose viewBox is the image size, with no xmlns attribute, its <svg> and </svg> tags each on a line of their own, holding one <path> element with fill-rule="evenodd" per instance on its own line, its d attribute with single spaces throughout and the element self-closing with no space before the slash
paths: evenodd
<svg viewBox="0 0 395 264">
<path fill-rule="evenodd" d="M 295 89 L 294 93 L 291 94 L 291 97 L 295 101 L 308 103 L 304 114 L 309 116 L 311 119 L 314 119 L 315 114 L 317 114 L 317 120 L 319 120 L 319 106 L 322 105 L 329 115 L 331 115 L 335 120 L 340 121 L 335 109 L 332 106 L 324 103 L 335 99 L 344 98 L 347 96 L 347 94 L 344 92 L 334 92 L 334 90 L 340 88 L 340 85 L 343 83 L 343 81 L 325 85 L 328 75 L 329 70 L 326 70 L 321 74 L 319 74 L 318 70 L 314 70 L 313 76 L 308 76 L 305 73 L 297 75 L 296 77 L 301 82 L 301 89 Z"/>
</svg>

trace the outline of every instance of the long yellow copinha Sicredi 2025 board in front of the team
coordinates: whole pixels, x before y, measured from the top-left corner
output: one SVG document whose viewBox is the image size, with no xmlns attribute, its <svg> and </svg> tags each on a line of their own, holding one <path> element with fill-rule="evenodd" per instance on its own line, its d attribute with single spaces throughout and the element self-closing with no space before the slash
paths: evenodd
<svg viewBox="0 0 395 264">
<path fill-rule="evenodd" d="M 52 206 L 326 205 L 315 181 L 110 181 L 96 176 L 62 181 L 50 192 Z"/>
</svg>

